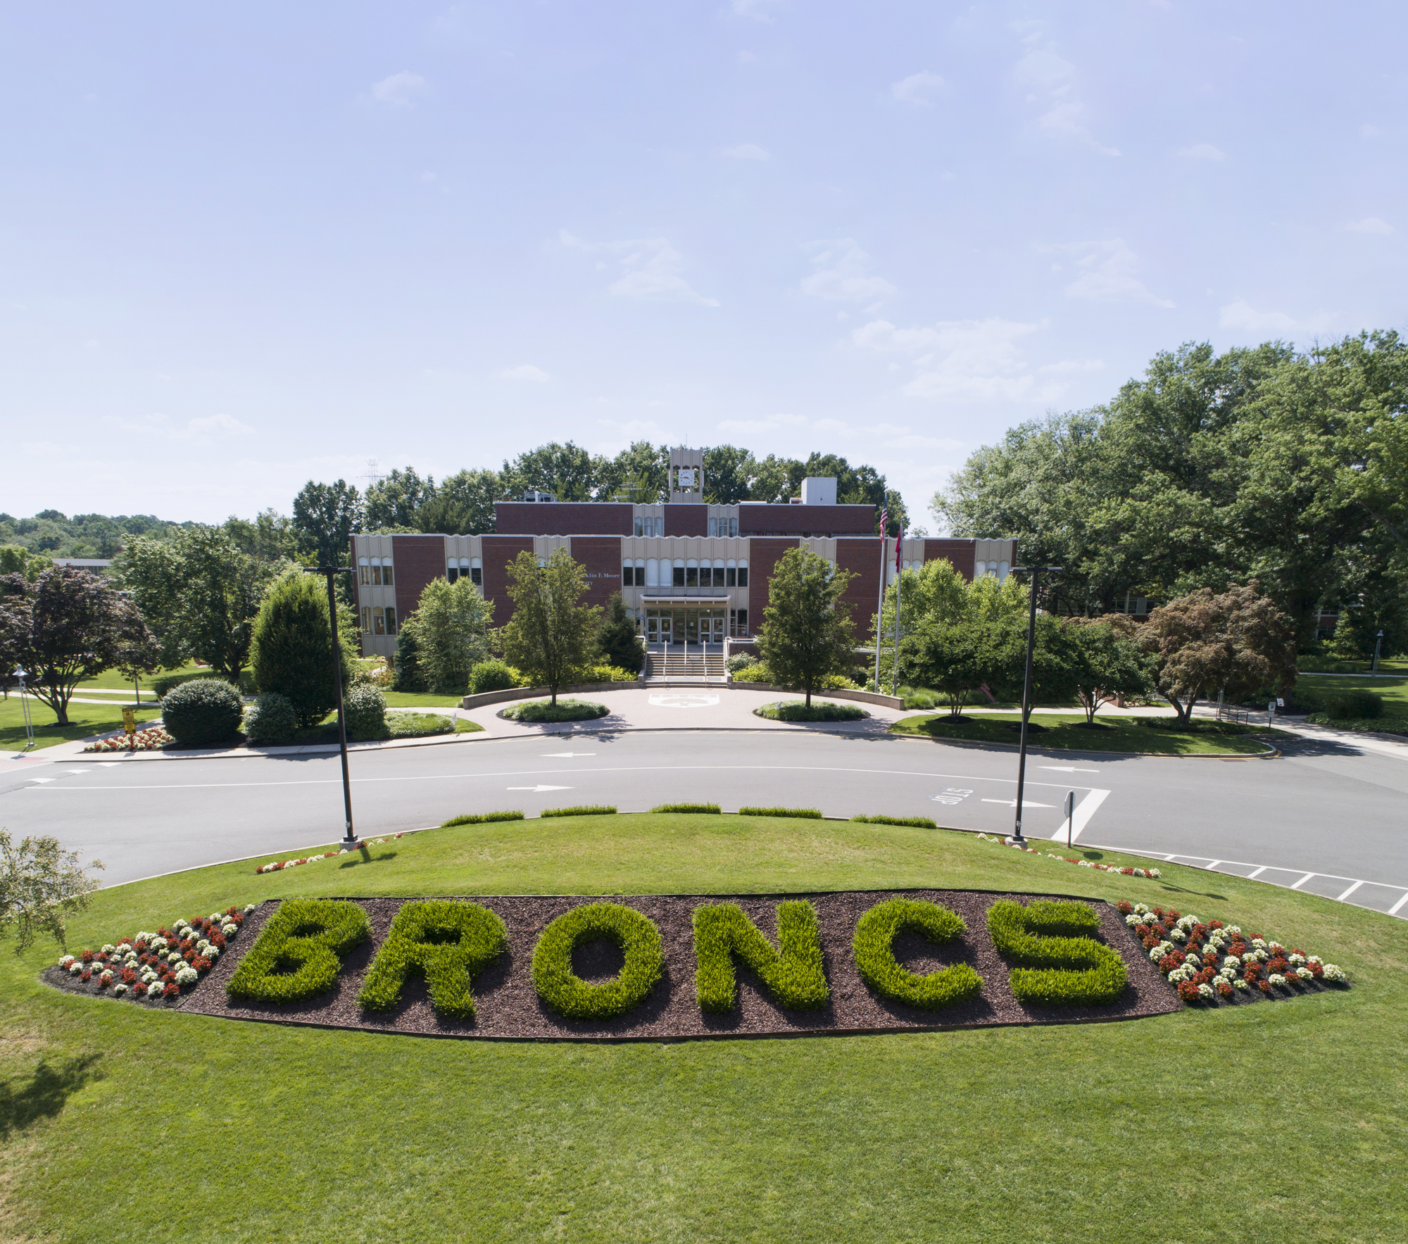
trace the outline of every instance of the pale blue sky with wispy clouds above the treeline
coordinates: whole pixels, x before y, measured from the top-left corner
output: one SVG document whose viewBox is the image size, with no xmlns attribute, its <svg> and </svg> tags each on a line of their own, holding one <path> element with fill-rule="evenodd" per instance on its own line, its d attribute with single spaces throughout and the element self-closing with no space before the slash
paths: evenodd
<svg viewBox="0 0 1408 1244">
<path fill-rule="evenodd" d="M 1402 321 L 1398 6 L 10 4 L 0 509 L 972 449 Z"/>
</svg>

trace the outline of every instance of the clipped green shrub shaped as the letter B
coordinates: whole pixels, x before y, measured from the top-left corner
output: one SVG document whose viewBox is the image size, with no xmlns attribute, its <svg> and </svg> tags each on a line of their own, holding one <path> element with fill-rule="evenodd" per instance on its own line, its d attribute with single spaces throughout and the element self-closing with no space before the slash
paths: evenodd
<svg viewBox="0 0 1408 1244">
<path fill-rule="evenodd" d="M 342 956 L 372 934 L 346 899 L 290 898 L 279 906 L 239 961 L 225 994 L 244 1002 L 301 1002 L 331 989 Z"/>
</svg>

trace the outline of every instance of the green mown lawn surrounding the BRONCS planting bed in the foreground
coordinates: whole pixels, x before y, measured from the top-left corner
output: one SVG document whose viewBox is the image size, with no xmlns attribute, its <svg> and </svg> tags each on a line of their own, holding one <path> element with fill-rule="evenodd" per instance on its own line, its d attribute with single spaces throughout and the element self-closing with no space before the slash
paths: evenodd
<svg viewBox="0 0 1408 1244">
<path fill-rule="evenodd" d="M 1079 1027 L 479 1044 L 69 996 L 37 979 L 52 946 L 6 948 L 0 1234 L 1124 1244 L 1397 1240 L 1408 1220 L 1404 922 L 1173 865 L 1146 881 L 942 830 L 738 816 L 253 863 L 104 891 L 70 944 L 273 895 L 936 885 L 1173 905 L 1304 944 L 1356 988 Z"/>
</svg>

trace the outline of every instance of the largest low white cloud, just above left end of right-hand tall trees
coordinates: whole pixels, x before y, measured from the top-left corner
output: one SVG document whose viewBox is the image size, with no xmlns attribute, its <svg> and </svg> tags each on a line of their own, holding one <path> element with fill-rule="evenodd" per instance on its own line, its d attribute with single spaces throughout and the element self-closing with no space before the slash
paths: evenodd
<svg viewBox="0 0 1408 1244">
<path fill-rule="evenodd" d="M 1015 319 L 949 319 L 921 328 L 897 328 L 874 319 L 850 339 L 862 349 L 910 355 L 914 379 L 910 397 L 1014 401 L 1050 398 L 1060 390 L 1039 386 L 1022 359 L 1018 342 L 1045 328 Z"/>
</svg>

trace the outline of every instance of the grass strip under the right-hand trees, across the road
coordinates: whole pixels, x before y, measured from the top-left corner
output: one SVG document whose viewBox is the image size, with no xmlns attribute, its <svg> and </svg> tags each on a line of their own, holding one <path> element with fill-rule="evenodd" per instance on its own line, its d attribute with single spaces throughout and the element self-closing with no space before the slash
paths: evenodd
<svg viewBox="0 0 1408 1244">
<path fill-rule="evenodd" d="M 1264 753 L 1266 746 L 1250 737 L 1255 728 L 1246 728 L 1247 735 L 1218 733 L 1214 722 L 1194 722 L 1193 733 L 1174 730 L 1152 730 L 1136 725 L 1129 718 L 1104 718 L 1095 715 L 1097 726 L 1087 729 L 1084 713 L 1036 713 L 1032 723 L 1045 726 L 1042 733 L 1028 732 L 1028 747 L 1059 747 L 1076 751 L 1142 751 L 1156 756 L 1193 756 L 1217 753 Z M 969 739 L 981 743 L 1017 743 L 1021 740 L 1018 713 L 966 713 L 964 721 L 955 722 L 948 713 L 921 713 L 901 718 L 891 726 L 897 735 L 928 735 L 931 739 Z M 1226 730 L 1229 726 L 1222 725 Z M 1243 729 L 1243 728 L 1236 728 Z M 1266 728 L 1255 733 L 1267 732 Z"/>
</svg>

